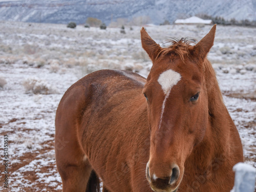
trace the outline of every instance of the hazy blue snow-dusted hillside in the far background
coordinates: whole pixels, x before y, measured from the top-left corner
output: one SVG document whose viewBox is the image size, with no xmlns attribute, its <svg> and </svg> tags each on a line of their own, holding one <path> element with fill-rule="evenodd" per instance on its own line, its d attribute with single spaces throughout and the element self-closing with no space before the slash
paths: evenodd
<svg viewBox="0 0 256 192">
<path fill-rule="evenodd" d="M 36 23 L 85 23 L 96 17 L 109 24 L 116 18 L 149 16 L 152 24 L 205 13 L 225 19 L 256 20 L 255 0 L 0 0 L 0 20 Z"/>
</svg>

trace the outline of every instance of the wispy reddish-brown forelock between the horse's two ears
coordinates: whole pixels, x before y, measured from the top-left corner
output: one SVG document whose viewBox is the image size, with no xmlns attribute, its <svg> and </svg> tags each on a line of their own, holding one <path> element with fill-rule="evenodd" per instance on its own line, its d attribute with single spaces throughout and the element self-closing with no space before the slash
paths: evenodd
<svg viewBox="0 0 256 192">
<path fill-rule="evenodd" d="M 193 48 L 191 44 L 195 44 L 196 40 L 189 37 L 182 37 L 181 39 L 169 37 L 164 44 L 169 43 L 170 46 L 163 48 L 157 55 L 156 60 L 161 60 L 165 55 L 179 55 L 181 60 L 184 62 L 184 55 L 189 53 L 189 50 Z"/>
</svg>

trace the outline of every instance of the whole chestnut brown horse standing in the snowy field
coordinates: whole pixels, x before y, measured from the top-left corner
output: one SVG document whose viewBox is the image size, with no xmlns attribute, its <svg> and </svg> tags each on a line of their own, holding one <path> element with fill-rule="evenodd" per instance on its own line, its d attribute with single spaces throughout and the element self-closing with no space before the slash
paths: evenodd
<svg viewBox="0 0 256 192">
<path fill-rule="evenodd" d="M 215 31 L 161 48 L 142 28 L 147 79 L 101 70 L 68 89 L 55 120 L 63 191 L 99 191 L 99 177 L 112 192 L 232 189 L 243 150 L 206 58 Z"/>
</svg>

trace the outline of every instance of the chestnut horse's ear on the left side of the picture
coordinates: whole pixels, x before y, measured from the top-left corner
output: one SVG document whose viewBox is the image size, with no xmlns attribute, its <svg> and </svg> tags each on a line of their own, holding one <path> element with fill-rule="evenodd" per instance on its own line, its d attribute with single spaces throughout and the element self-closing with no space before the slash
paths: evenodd
<svg viewBox="0 0 256 192">
<path fill-rule="evenodd" d="M 142 27 L 140 30 L 141 44 L 142 48 L 150 56 L 151 60 L 154 62 L 158 53 L 162 48 L 147 34 L 146 30 Z"/>
</svg>

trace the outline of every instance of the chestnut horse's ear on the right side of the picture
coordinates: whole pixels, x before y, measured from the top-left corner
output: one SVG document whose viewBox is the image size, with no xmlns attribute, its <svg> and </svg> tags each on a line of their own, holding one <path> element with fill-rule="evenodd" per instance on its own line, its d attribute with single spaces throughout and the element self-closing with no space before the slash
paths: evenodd
<svg viewBox="0 0 256 192">
<path fill-rule="evenodd" d="M 202 38 L 197 45 L 194 46 L 192 54 L 204 60 L 210 48 L 214 45 L 214 37 L 216 31 L 216 24 L 211 28 L 210 32 Z"/>
</svg>

